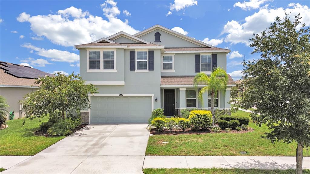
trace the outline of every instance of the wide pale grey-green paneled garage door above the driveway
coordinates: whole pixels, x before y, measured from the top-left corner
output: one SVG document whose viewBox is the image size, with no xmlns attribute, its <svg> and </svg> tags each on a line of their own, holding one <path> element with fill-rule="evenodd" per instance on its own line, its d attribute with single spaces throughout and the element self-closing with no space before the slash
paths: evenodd
<svg viewBox="0 0 310 174">
<path fill-rule="evenodd" d="M 91 123 L 147 123 L 152 97 L 91 97 Z"/>
</svg>

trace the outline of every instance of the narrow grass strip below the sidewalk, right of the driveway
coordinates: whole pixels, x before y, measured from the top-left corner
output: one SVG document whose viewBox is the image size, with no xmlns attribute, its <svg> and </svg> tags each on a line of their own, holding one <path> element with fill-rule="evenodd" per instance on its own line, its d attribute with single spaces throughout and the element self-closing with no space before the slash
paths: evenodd
<svg viewBox="0 0 310 174">
<path fill-rule="evenodd" d="M 261 170 L 261 169 L 224 169 L 224 168 L 193 168 L 193 169 L 143 169 L 144 174 L 294 174 L 295 170 Z M 310 170 L 303 170 L 310 174 Z"/>
</svg>

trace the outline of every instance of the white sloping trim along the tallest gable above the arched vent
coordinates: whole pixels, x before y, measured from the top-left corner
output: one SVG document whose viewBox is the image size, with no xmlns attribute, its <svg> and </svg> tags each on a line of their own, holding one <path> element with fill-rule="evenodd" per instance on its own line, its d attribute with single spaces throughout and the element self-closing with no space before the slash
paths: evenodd
<svg viewBox="0 0 310 174">
<path fill-rule="evenodd" d="M 162 29 L 163 31 L 165 31 L 165 32 L 167 32 L 167 33 L 170 33 L 170 34 L 172 34 L 172 35 L 175 35 L 175 36 L 177 36 L 177 37 L 180 37 L 180 38 L 182 38 L 182 39 L 185 39 L 185 40 L 187 40 L 187 41 L 190 41 L 190 42 L 192 42 L 192 43 L 195 43 L 195 44 L 197 44 L 197 45 L 200 45 L 200 46 L 207 46 L 207 47 L 210 47 L 210 48 L 215 48 L 215 46 L 212 46 L 212 45 L 209 45 L 209 44 L 207 44 L 207 43 L 205 43 L 205 42 L 202 42 L 202 41 L 198 41 L 197 39 L 194 39 L 194 38 L 192 38 L 192 37 L 188 37 L 188 36 L 186 36 L 186 35 L 184 35 L 184 34 L 181 34 L 181 33 L 179 33 L 179 32 L 176 32 L 176 31 L 173 31 L 173 30 L 171 30 L 171 29 L 169 29 L 169 28 L 166 28 L 166 27 L 163 27 L 163 26 L 161 26 L 161 25 L 154 25 L 153 27 L 150 27 L 150 28 L 148 28 L 148 29 L 145 29 L 145 30 L 143 30 L 143 31 L 141 31 L 141 32 L 139 32 L 139 33 L 136 33 L 136 34 L 134 34 L 133 36 L 135 36 L 135 37 L 140 37 L 140 36 L 143 36 L 143 35 L 145 35 L 145 34 L 147 34 L 147 33 L 149 33 L 149 32 L 152 32 L 152 31 L 154 31 L 154 30 L 156 30 L 156 29 Z"/>
</svg>

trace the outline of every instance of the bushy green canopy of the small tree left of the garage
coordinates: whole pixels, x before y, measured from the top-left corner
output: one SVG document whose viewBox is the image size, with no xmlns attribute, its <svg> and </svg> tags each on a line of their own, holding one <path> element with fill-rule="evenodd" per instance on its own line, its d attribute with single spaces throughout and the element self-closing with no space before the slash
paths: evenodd
<svg viewBox="0 0 310 174">
<path fill-rule="evenodd" d="M 23 109 L 26 117 L 41 118 L 47 114 L 53 115 L 55 111 L 60 112 L 64 120 L 65 112 L 77 112 L 83 108 L 90 108 L 88 94 L 97 93 L 97 88 L 92 84 L 85 84 L 82 77 L 74 72 L 65 76 L 60 72 L 53 77 L 38 78 L 35 84 L 39 87 L 32 93 L 24 96 Z"/>
</svg>

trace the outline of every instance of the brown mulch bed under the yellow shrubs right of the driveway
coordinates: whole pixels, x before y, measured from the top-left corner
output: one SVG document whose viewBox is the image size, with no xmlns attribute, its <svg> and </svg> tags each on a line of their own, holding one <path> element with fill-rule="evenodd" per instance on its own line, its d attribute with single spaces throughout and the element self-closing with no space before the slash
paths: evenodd
<svg viewBox="0 0 310 174">
<path fill-rule="evenodd" d="M 253 132 L 253 131 L 254 131 L 253 128 L 249 128 L 247 131 L 242 130 L 238 132 L 237 130 L 231 130 L 230 132 L 225 132 L 224 130 L 222 130 L 219 133 L 248 133 L 248 132 Z M 153 135 L 206 134 L 206 133 L 214 133 L 214 132 L 211 132 L 209 129 L 204 129 L 204 130 L 199 130 L 199 131 L 195 131 L 193 129 L 187 129 L 185 132 L 179 129 L 173 129 L 171 132 L 167 129 L 164 129 L 164 131 L 158 132 L 156 128 L 152 128 L 150 131 L 150 134 L 153 134 Z"/>
</svg>

